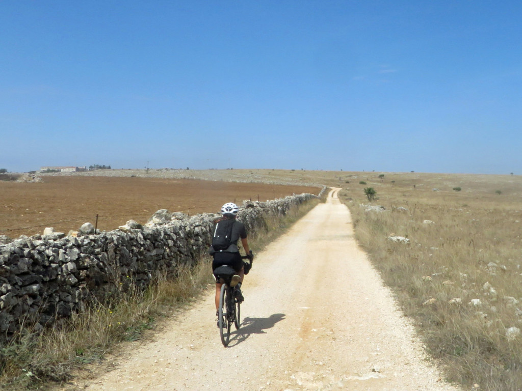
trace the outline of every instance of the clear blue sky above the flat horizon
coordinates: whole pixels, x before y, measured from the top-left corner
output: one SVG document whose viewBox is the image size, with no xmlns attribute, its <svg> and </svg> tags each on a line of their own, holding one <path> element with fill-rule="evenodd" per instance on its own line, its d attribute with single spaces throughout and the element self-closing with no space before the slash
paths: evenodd
<svg viewBox="0 0 522 391">
<path fill-rule="evenodd" d="M 522 174 L 522 2 L 0 1 L 0 168 Z"/>
</svg>

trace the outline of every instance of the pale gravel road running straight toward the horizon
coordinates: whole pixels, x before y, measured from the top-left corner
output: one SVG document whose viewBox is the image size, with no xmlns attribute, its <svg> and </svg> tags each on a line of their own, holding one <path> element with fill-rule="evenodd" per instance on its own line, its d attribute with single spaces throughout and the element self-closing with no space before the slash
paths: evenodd
<svg viewBox="0 0 522 391">
<path fill-rule="evenodd" d="M 357 247 L 338 190 L 257 255 L 229 348 L 209 292 L 86 389 L 455 391 Z"/>
</svg>

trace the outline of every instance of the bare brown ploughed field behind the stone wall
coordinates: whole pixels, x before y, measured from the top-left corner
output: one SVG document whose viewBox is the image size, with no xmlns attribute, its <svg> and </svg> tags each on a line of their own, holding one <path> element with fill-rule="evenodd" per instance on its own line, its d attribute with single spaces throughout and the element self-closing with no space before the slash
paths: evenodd
<svg viewBox="0 0 522 391">
<path fill-rule="evenodd" d="M 159 209 L 197 214 L 219 212 L 226 202 L 272 200 L 317 187 L 192 179 L 44 176 L 41 183 L 0 181 L 0 235 L 67 233 L 83 223 L 112 230 L 129 219 L 144 224 Z"/>
</svg>

